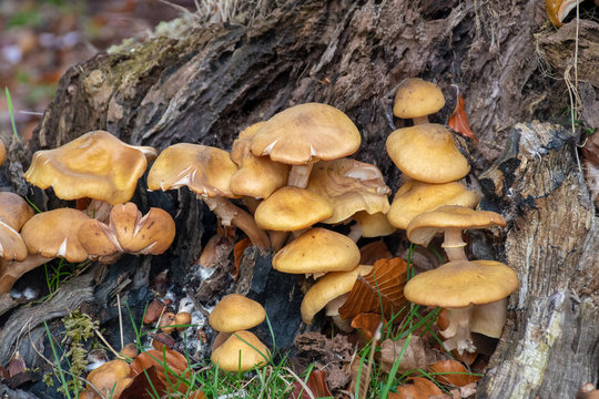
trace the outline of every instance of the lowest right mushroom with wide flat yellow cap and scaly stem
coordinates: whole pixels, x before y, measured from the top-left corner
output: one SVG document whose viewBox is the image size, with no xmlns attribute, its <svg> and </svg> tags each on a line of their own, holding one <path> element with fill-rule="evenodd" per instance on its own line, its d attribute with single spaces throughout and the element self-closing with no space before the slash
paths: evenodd
<svg viewBox="0 0 599 399">
<path fill-rule="evenodd" d="M 440 331 L 447 339 L 444 346 L 461 355 L 464 350 L 476 350 L 470 337 L 473 306 L 501 301 L 517 287 L 516 272 L 499 262 L 454 260 L 413 277 L 404 295 L 414 304 L 447 309 L 449 326 Z M 498 317 L 505 321 L 505 314 Z"/>
</svg>

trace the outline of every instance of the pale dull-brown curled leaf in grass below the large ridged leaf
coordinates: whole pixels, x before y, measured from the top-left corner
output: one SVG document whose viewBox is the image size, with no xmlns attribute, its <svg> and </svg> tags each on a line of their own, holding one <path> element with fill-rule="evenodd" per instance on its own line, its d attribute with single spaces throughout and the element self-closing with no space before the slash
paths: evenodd
<svg viewBox="0 0 599 399">
<path fill-rule="evenodd" d="M 396 361 L 399 362 L 397 372 L 403 374 L 415 369 L 425 369 L 436 359 L 432 351 L 428 351 L 420 337 L 412 336 L 406 346 L 406 339 L 385 339 L 380 344 L 379 360 L 380 369 L 389 372 Z M 404 351 L 402 354 L 402 351 Z"/>
</svg>

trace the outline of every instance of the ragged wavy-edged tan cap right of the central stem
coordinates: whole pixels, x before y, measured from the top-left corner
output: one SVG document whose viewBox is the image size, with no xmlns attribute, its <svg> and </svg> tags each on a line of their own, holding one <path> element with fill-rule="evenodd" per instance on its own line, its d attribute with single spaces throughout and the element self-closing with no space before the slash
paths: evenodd
<svg viewBox="0 0 599 399">
<path fill-rule="evenodd" d="M 343 222 L 356 212 L 386 213 L 390 188 L 375 165 L 351 158 L 321 161 L 314 165 L 306 186 L 333 206 L 333 215 L 323 223 Z"/>
</svg>

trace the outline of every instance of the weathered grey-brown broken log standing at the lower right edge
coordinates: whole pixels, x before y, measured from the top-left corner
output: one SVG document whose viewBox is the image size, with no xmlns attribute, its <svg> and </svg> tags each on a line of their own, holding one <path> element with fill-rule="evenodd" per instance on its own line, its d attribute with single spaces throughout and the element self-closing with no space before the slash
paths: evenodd
<svg viewBox="0 0 599 399">
<path fill-rule="evenodd" d="M 560 126 L 512 129 L 480 175 L 508 228 L 505 262 L 517 273 L 510 323 L 478 385 L 479 398 L 571 398 L 599 370 L 599 219 Z"/>
</svg>

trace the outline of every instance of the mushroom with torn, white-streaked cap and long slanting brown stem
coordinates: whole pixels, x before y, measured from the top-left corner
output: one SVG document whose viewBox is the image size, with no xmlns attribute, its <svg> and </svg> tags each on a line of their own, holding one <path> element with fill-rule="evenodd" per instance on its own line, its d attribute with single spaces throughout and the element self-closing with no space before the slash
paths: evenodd
<svg viewBox="0 0 599 399">
<path fill-rule="evenodd" d="M 160 153 L 148 174 L 148 187 L 166 191 L 187 186 L 223 225 L 241 228 L 255 246 L 268 248 L 271 243 L 266 233 L 256 226 L 247 212 L 227 200 L 236 197 L 230 185 L 236 171 L 237 166 L 224 150 L 180 143 Z"/>
</svg>

